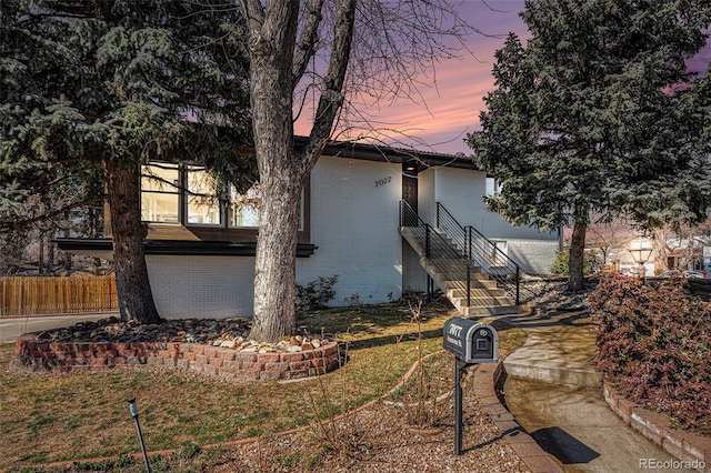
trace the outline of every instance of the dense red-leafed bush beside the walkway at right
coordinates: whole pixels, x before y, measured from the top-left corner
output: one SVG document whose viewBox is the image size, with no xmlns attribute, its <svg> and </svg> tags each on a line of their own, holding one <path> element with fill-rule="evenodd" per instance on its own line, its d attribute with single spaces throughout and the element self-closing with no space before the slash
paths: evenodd
<svg viewBox="0 0 711 473">
<path fill-rule="evenodd" d="M 590 294 L 599 322 L 598 370 L 635 402 L 681 427 L 711 421 L 711 305 L 671 278 L 658 286 L 609 275 Z"/>
</svg>

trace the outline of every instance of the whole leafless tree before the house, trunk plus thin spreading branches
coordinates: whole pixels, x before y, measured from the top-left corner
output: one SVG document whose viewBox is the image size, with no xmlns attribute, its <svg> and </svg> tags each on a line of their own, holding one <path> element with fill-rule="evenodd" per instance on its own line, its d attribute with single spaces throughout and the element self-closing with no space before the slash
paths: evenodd
<svg viewBox="0 0 711 473">
<path fill-rule="evenodd" d="M 441 39 L 469 28 L 447 0 L 240 0 L 240 6 L 262 189 L 251 336 L 274 340 L 294 331 L 299 194 L 337 119 L 346 118 L 344 109 L 357 111 L 363 98 L 417 97 L 417 82 L 452 52 Z M 297 152 L 294 104 L 302 103 L 303 90 L 317 94 L 317 104 L 309 140 Z"/>
</svg>

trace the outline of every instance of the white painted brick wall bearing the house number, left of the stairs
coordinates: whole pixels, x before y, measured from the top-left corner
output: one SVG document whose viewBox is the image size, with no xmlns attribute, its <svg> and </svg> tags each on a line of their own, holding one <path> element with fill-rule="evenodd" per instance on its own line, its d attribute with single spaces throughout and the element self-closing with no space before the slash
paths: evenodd
<svg viewBox="0 0 711 473">
<path fill-rule="evenodd" d="M 333 305 L 402 293 L 398 232 L 400 164 L 322 157 L 311 172 L 311 258 L 297 261 L 297 281 L 338 274 Z"/>
</svg>

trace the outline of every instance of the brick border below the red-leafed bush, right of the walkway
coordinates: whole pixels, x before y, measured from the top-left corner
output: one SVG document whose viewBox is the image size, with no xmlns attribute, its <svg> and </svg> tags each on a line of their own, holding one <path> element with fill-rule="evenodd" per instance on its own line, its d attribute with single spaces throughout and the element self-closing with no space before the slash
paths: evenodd
<svg viewBox="0 0 711 473">
<path fill-rule="evenodd" d="M 620 394 L 608 381 L 603 381 L 602 392 L 612 412 L 632 429 L 660 445 L 680 462 L 687 463 L 690 469 L 704 473 L 711 472 L 711 437 L 672 427 L 668 414 L 639 407 Z"/>
</svg>

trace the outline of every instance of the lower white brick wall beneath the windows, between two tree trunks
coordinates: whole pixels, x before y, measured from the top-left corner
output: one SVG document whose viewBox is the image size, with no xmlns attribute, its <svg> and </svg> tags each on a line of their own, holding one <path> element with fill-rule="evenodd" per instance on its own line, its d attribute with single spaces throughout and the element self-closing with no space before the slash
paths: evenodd
<svg viewBox="0 0 711 473">
<path fill-rule="evenodd" d="M 252 315 L 254 258 L 149 254 L 146 262 L 163 319 Z"/>
</svg>

